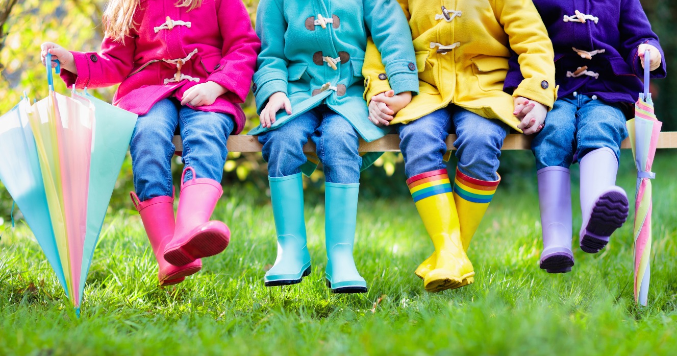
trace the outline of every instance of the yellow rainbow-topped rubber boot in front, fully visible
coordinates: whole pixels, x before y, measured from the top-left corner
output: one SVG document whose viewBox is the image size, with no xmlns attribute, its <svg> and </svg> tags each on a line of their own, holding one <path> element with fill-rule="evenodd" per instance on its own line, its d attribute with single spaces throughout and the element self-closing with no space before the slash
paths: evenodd
<svg viewBox="0 0 677 356">
<path fill-rule="evenodd" d="M 435 268 L 424 279 L 425 290 L 441 292 L 473 283 L 475 271 L 460 238 L 452 184 L 446 170 L 407 180 L 418 214 L 435 245 Z"/>
</svg>

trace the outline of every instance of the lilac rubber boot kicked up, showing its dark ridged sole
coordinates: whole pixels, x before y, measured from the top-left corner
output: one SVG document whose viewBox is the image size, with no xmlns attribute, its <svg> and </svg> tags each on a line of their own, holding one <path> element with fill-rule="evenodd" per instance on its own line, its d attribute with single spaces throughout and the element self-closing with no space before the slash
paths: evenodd
<svg viewBox="0 0 677 356">
<path fill-rule="evenodd" d="M 609 148 L 591 151 L 581 166 L 581 250 L 600 252 L 628 218 L 628 195 L 616 186 L 618 161 Z"/>
</svg>

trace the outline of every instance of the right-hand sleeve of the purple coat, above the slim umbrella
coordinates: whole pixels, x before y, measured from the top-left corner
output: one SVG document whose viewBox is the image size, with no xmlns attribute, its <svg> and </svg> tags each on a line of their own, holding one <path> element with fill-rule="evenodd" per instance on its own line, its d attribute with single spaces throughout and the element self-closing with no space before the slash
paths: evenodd
<svg viewBox="0 0 677 356">
<path fill-rule="evenodd" d="M 661 66 L 651 71 L 652 78 L 665 77 L 665 54 L 658 41 L 658 36 L 651 31 L 651 24 L 647 14 L 642 9 L 639 0 L 621 1 L 621 19 L 618 24 L 621 33 L 621 55 L 626 58 L 626 62 L 632 68 L 632 72 L 638 77 L 644 75 L 644 68 L 639 58 L 638 47 L 642 43 L 648 43 L 658 48 L 661 52 Z"/>
</svg>

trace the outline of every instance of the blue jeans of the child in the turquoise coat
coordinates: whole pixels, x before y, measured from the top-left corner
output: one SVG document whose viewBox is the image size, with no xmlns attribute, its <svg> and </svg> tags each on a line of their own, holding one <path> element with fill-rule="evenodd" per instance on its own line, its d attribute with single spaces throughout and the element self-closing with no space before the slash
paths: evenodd
<svg viewBox="0 0 677 356">
<path fill-rule="evenodd" d="M 303 145 L 311 137 L 317 146 L 327 182 L 359 182 L 359 169 L 362 167 L 359 136 L 345 117 L 324 105 L 259 135 L 263 159 L 268 162 L 268 175 L 279 178 L 301 172 L 301 165 L 307 160 Z"/>
</svg>

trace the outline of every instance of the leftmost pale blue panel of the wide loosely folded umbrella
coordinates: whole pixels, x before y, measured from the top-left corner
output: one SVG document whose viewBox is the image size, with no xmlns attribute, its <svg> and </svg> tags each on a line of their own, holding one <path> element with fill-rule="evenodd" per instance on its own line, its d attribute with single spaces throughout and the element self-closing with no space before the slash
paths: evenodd
<svg viewBox="0 0 677 356">
<path fill-rule="evenodd" d="M 23 100 L 0 117 L 0 180 L 24 215 L 66 294 L 62 266 L 47 205 L 47 193 L 30 124 L 30 102 Z"/>
</svg>

